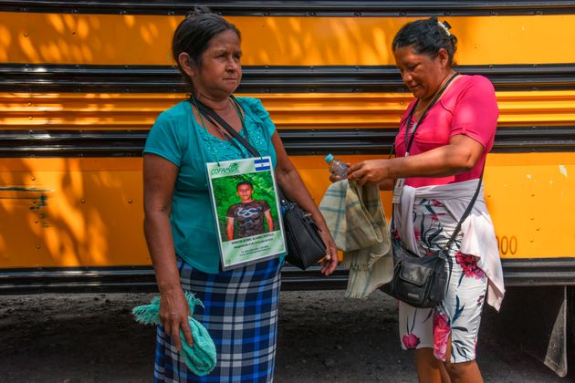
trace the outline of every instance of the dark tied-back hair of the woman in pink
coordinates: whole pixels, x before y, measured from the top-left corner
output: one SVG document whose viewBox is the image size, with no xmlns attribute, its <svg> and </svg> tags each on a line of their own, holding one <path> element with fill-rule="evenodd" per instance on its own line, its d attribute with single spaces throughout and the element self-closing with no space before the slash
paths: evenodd
<svg viewBox="0 0 575 383">
<path fill-rule="evenodd" d="M 444 48 L 449 56 L 449 65 L 453 66 L 457 37 L 449 31 L 450 29 L 449 23 L 446 21 L 442 23 L 435 16 L 407 23 L 393 37 L 392 49 L 413 47 L 418 54 L 435 57 L 439 50 Z"/>
</svg>

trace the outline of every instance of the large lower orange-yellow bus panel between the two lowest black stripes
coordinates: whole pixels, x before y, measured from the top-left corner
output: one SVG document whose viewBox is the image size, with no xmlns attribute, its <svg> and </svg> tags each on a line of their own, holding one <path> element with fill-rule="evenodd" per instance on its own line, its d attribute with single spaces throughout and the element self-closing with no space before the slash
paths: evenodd
<svg viewBox="0 0 575 383">
<path fill-rule="evenodd" d="M 319 203 L 329 186 L 322 156 L 291 160 Z M 150 264 L 142 234 L 141 158 L 10 159 L 2 165 L 3 268 Z M 574 256 L 570 174 L 575 174 L 575 153 L 488 157 L 486 202 L 503 258 Z M 390 192 L 382 192 L 388 220 L 390 200 Z"/>
</svg>

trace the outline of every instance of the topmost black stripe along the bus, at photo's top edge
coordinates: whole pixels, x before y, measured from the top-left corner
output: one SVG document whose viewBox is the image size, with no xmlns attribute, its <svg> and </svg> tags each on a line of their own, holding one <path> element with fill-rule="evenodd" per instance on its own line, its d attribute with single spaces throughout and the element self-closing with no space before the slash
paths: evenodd
<svg viewBox="0 0 575 383">
<path fill-rule="evenodd" d="M 504 16 L 575 13 L 575 2 L 556 1 L 211 1 L 202 2 L 224 16 Z M 185 15 L 193 3 L 185 0 L 14 0 L 0 11 L 59 14 Z"/>
</svg>

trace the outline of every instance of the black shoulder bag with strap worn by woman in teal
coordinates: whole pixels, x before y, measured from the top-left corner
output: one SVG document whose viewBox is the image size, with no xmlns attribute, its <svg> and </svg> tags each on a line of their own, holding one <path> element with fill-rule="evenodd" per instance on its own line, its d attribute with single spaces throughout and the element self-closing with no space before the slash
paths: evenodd
<svg viewBox="0 0 575 383">
<path fill-rule="evenodd" d="M 232 97 L 235 108 L 241 109 L 241 106 L 235 98 Z M 225 119 L 222 119 L 213 109 L 208 108 L 203 103 L 196 100 L 198 111 L 202 113 L 212 123 L 217 122 L 229 134 L 231 142 L 235 144 L 238 140 L 246 150 L 254 157 L 261 157 L 259 152 L 248 140 L 242 137 L 234 128 L 232 128 Z M 241 117 L 241 116 L 240 116 Z M 242 119 L 242 124 L 244 120 Z M 243 127 L 246 129 L 246 127 Z M 246 129 L 247 131 L 247 129 Z M 288 255 L 286 260 L 290 264 L 298 266 L 305 270 L 312 264 L 319 262 L 326 254 L 326 245 L 319 235 L 319 227 L 311 218 L 311 214 L 305 212 L 296 202 L 290 202 L 284 193 L 278 188 L 278 197 L 281 205 L 281 215 L 284 223 L 284 232 L 286 234 L 286 245 Z"/>
</svg>

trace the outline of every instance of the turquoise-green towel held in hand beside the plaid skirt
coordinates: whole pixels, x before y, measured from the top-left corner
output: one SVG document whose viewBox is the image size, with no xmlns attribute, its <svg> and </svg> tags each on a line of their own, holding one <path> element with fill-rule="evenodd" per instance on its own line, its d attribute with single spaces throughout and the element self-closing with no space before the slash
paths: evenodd
<svg viewBox="0 0 575 383">
<path fill-rule="evenodd" d="M 209 374 L 215 367 L 216 354 L 214 340 L 208 334 L 205 327 L 193 319 L 193 307 L 195 305 L 204 304 L 199 299 L 196 299 L 192 293 L 185 293 L 185 297 L 190 305 L 190 316 L 188 316 L 188 323 L 192 330 L 193 347 L 190 347 L 185 341 L 183 331 L 180 330 L 180 337 L 183 346 L 183 360 L 190 370 L 200 376 Z M 137 322 L 143 325 L 160 325 L 160 297 L 156 296 L 152 299 L 150 305 L 139 305 L 131 310 Z"/>
</svg>

